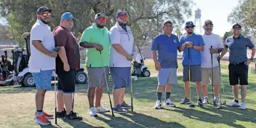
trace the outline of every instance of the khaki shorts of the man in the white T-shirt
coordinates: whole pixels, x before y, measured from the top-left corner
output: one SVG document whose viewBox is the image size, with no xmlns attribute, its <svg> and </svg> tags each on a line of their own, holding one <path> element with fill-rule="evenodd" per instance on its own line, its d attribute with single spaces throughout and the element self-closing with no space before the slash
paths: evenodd
<svg viewBox="0 0 256 128">
<path fill-rule="evenodd" d="M 212 71 L 213 71 L 213 85 L 220 85 L 220 69 L 219 66 L 214 68 L 201 68 L 201 85 L 212 84 Z"/>
</svg>

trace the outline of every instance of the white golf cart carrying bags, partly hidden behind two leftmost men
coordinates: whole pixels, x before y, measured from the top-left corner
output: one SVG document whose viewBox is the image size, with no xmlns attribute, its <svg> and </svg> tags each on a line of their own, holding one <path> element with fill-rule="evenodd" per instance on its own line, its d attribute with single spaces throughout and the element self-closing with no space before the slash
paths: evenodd
<svg viewBox="0 0 256 128">
<path fill-rule="evenodd" d="M 30 32 L 23 33 L 23 37 L 25 39 L 26 50 L 23 47 L 20 47 L 12 52 L 15 73 L 12 73 L 7 81 L 11 81 L 14 85 L 21 84 L 23 87 L 34 87 L 35 81 L 33 80 L 32 74 L 28 70 L 28 60 L 31 55 Z M 54 80 L 54 73 L 52 73 L 52 80 Z M 84 68 L 81 64 L 80 68 L 76 70 L 75 81 L 77 84 L 87 83 L 87 73 L 84 73 Z"/>
</svg>

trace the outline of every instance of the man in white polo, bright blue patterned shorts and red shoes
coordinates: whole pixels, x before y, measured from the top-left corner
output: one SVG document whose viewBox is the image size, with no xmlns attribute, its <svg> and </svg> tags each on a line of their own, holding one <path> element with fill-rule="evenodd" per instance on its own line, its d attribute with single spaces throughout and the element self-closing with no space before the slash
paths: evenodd
<svg viewBox="0 0 256 128">
<path fill-rule="evenodd" d="M 52 20 L 52 9 L 40 7 L 36 12 L 36 23 L 31 28 L 31 56 L 28 65 L 29 72 L 32 73 L 36 84 L 36 124 L 51 124 L 49 115 L 43 111 L 44 95 L 47 90 L 51 90 L 52 71 L 55 69 L 55 39 L 52 35 L 48 23 Z"/>
</svg>

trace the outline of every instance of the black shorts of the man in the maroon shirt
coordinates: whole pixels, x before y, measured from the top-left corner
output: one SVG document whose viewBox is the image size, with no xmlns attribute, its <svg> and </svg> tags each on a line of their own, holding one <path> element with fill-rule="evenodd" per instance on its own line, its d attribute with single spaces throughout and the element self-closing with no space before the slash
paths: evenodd
<svg viewBox="0 0 256 128">
<path fill-rule="evenodd" d="M 56 68 L 57 73 L 57 89 L 62 90 L 63 93 L 75 92 L 75 79 L 76 69 L 70 69 L 70 71 L 64 71 L 63 68 Z"/>
</svg>

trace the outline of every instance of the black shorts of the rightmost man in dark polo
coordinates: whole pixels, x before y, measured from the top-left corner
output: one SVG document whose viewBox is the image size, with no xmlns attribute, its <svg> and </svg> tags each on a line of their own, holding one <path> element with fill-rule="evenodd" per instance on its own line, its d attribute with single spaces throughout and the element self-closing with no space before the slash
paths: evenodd
<svg viewBox="0 0 256 128">
<path fill-rule="evenodd" d="M 230 63 L 228 70 L 229 84 L 248 85 L 248 65 L 244 63 Z"/>
</svg>

